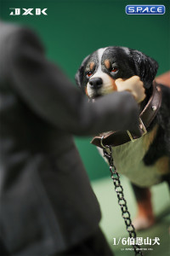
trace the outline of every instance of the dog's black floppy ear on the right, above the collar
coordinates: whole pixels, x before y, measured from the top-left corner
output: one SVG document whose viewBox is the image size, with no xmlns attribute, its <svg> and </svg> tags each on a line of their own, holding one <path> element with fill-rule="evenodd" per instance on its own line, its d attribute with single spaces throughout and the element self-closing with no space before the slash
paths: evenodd
<svg viewBox="0 0 170 256">
<path fill-rule="evenodd" d="M 132 50 L 133 60 L 136 67 L 137 75 L 144 82 L 144 87 L 149 89 L 152 81 L 156 77 L 158 63 L 139 50 Z"/>
</svg>

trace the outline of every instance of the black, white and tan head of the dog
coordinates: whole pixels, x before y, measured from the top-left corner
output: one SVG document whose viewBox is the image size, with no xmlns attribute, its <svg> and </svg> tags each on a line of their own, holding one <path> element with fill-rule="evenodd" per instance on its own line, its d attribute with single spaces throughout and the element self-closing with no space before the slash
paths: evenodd
<svg viewBox="0 0 170 256">
<path fill-rule="evenodd" d="M 157 62 L 142 52 L 113 46 L 88 55 L 77 71 L 76 81 L 89 98 L 95 98 L 117 90 L 116 79 L 137 75 L 144 82 L 147 96 L 157 68 Z"/>
</svg>

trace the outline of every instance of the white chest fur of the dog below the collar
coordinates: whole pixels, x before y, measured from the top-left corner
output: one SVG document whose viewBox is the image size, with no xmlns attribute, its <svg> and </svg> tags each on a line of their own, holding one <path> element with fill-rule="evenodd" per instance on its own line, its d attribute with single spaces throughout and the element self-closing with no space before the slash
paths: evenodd
<svg viewBox="0 0 170 256">
<path fill-rule="evenodd" d="M 103 156 L 103 149 L 99 148 L 99 153 Z M 144 165 L 143 137 L 135 142 L 129 142 L 117 147 L 112 147 L 113 160 L 117 172 L 127 176 L 130 181 L 140 187 L 150 187 L 161 182 L 161 175 L 156 170 L 156 165 Z"/>
</svg>

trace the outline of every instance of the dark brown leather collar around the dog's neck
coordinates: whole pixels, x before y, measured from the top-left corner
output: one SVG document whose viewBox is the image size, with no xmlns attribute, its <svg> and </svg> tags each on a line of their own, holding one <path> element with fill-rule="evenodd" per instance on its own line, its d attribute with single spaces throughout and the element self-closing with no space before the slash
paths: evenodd
<svg viewBox="0 0 170 256">
<path fill-rule="evenodd" d="M 161 87 L 153 82 L 153 93 L 150 96 L 149 102 L 144 107 L 143 111 L 139 114 L 139 131 L 140 136 L 135 136 L 130 131 L 109 131 L 104 134 L 100 134 L 92 139 L 91 143 L 103 148 L 104 145 L 110 145 L 116 147 L 130 141 L 134 142 L 139 137 L 143 137 L 147 133 L 151 122 L 156 117 L 156 113 L 161 107 Z M 102 142 L 102 144 L 101 144 Z"/>
</svg>

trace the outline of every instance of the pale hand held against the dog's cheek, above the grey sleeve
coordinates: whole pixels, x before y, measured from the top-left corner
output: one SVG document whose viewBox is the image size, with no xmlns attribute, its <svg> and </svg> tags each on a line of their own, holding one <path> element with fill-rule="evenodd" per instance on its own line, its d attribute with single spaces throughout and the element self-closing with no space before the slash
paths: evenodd
<svg viewBox="0 0 170 256">
<path fill-rule="evenodd" d="M 144 83 L 138 76 L 133 76 L 130 79 L 116 79 L 115 84 L 117 91 L 127 90 L 132 93 L 136 102 L 142 102 L 145 98 Z"/>
</svg>

